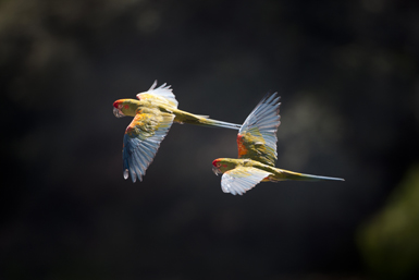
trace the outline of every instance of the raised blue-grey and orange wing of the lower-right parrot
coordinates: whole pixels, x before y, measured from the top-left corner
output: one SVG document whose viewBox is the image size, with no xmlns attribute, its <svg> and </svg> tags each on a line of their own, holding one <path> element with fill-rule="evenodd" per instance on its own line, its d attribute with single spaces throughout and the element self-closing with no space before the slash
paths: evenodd
<svg viewBox="0 0 419 280">
<path fill-rule="evenodd" d="M 266 95 L 247 117 L 237 134 L 238 158 L 275 166 L 276 130 L 281 124 L 279 100 L 278 93 Z"/>
</svg>

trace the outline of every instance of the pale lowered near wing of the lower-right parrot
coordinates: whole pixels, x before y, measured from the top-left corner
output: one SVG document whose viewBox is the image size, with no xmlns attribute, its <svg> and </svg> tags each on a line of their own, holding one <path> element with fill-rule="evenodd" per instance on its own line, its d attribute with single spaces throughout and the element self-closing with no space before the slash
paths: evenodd
<svg viewBox="0 0 419 280">
<path fill-rule="evenodd" d="M 221 178 L 221 190 L 224 193 L 243 195 L 270 174 L 252 167 L 237 167 L 224 172 Z"/>
</svg>

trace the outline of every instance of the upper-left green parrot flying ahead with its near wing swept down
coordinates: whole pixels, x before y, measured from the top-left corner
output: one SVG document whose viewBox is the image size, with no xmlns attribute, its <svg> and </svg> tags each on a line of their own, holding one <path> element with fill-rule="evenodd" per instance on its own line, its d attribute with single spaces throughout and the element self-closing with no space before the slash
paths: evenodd
<svg viewBox="0 0 419 280">
<path fill-rule="evenodd" d="M 137 94 L 136 99 L 119 99 L 113 102 L 116 118 L 134 117 L 125 130 L 122 159 L 123 176 L 131 174 L 133 183 L 139 181 L 156 156 L 160 143 L 168 134 L 173 122 L 190 123 L 202 126 L 239 130 L 239 124 L 209 119 L 208 115 L 194 114 L 177 109 L 177 100 L 171 86 L 165 83 L 156 88 L 157 81 L 150 89 Z"/>
</svg>

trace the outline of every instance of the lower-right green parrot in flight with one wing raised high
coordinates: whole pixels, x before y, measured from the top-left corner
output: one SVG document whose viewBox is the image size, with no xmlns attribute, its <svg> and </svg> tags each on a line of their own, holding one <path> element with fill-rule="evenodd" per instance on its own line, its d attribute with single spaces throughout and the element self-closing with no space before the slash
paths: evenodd
<svg viewBox="0 0 419 280">
<path fill-rule="evenodd" d="M 297 173 L 275 168 L 276 130 L 281 124 L 280 97 L 268 94 L 247 117 L 237 135 L 238 159 L 219 158 L 212 161 L 212 170 L 222 173 L 221 190 L 243 195 L 260 182 L 285 180 L 322 181 L 341 178 Z"/>
</svg>

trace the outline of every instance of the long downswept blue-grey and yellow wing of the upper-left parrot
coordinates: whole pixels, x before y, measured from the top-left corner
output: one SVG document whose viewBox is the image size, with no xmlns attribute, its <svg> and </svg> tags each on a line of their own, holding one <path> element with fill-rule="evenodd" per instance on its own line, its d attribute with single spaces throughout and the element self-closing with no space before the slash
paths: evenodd
<svg viewBox="0 0 419 280">
<path fill-rule="evenodd" d="M 162 113 L 157 109 L 144 109 L 134 117 L 124 135 L 122 151 L 124 179 L 131 174 L 134 183 L 137 178 L 139 181 L 143 180 L 160 143 L 172 126 L 173 119 L 173 114 Z"/>
</svg>

